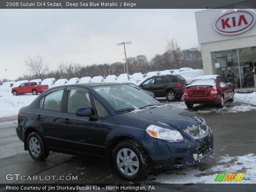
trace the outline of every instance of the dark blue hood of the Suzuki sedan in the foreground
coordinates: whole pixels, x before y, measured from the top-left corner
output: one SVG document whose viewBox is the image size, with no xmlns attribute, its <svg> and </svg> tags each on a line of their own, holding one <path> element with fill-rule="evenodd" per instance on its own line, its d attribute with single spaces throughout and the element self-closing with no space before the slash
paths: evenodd
<svg viewBox="0 0 256 192">
<path fill-rule="evenodd" d="M 174 130 L 183 130 L 203 122 L 203 119 L 200 116 L 170 105 L 144 110 L 134 110 L 123 115 L 144 121 L 148 125 L 154 124 Z"/>
</svg>

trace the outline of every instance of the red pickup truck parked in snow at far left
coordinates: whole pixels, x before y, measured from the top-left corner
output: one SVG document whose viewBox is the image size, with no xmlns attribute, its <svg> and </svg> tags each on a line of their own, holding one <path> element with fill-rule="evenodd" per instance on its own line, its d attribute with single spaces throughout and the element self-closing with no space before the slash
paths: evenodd
<svg viewBox="0 0 256 192">
<path fill-rule="evenodd" d="M 37 95 L 48 88 L 48 85 L 37 85 L 36 82 L 22 83 L 20 86 L 12 88 L 12 94 L 18 95 L 23 93 L 33 93 L 33 95 Z"/>
</svg>

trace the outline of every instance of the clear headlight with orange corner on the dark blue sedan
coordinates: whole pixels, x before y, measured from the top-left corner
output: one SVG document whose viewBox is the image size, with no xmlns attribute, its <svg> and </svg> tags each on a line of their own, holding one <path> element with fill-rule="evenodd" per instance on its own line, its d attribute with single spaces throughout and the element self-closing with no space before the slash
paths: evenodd
<svg viewBox="0 0 256 192">
<path fill-rule="evenodd" d="M 170 130 L 166 128 L 162 128 L 156 125 L 150 125 L 146 129 L 146 132 L 154 137 L 154 138 L 159 138 L 159 139 L 164 139 L 164 140 L 181 140 L 183 139 L 182 135 L 180 132 L 176 130 Z"/>
</svg>

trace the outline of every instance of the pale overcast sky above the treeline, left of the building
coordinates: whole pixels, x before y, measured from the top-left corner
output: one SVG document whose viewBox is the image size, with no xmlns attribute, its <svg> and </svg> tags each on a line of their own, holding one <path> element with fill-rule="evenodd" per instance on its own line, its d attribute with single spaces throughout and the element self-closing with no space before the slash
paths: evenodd
<svg viewBox="0 0 256 192">
<path fill-rule="evenodd" d="M 28 74 L 27 55 L 46 57 L 50 70 L 64 62 L 81 65 L 122 62 L 140 54 L 148 60 L 175 38 L 182 49 L 198 45 L 194 9 L 0 10 L 0 79 Z"/>
</svg>

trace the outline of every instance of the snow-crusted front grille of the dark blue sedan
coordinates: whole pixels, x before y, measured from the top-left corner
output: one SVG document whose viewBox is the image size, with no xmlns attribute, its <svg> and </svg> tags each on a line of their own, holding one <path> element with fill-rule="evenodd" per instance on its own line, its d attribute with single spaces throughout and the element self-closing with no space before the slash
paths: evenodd
<svg viewBox="0 0 256 192">
<path fill-rule="evenodd" d="M 189 136 L 194 139 L 202 138 L 209 132 L 209 128 L 206 124 L 201 123 L 198 126 L 192 126 L 184 130 Z"/>
</svg>

